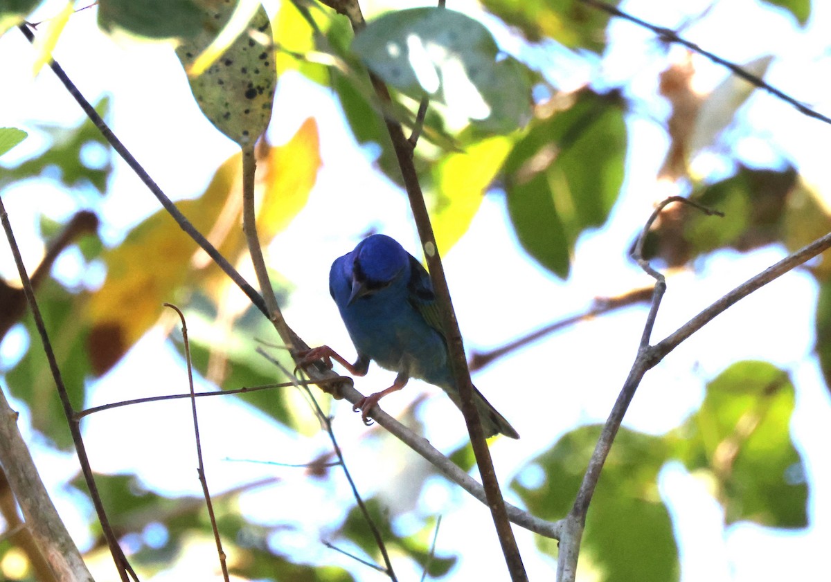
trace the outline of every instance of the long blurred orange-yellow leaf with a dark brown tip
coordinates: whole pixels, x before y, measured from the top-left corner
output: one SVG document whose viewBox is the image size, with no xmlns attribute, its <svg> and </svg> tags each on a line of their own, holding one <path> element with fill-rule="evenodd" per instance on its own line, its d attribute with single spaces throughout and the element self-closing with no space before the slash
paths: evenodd
<svg viewBox="0 0 831 582">
<path fill-rule="evenodd" d="M 258 149 L 258 227 L 263 246 L 302 209 L 321 160 L 317 124 L 306 120 L 287 144 Z M 176 206 L 219 252 L 238 265 L 248 260 L 242 232 L 242 154 L 227 159 L 199 198 Z M 159 319 L 162 304 L 187 299 L 184 285 L 199 286 L 214 301 L 229 279 L 163 210 L 135 227 L 103 257 L 107 277 L 91 296 L 90 358 L 103 374 Z"/>
</svg>

